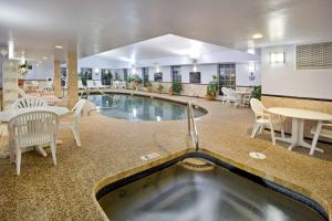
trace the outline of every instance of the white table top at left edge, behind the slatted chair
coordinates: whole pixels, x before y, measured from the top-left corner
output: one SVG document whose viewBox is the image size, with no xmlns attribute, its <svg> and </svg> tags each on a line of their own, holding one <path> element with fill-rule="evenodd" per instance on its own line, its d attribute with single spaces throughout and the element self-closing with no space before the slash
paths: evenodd
<svg viewBox="0 0 332 221">
<path fill-rule="evenodd" d="M 19 114 L 30 113 L 30 112 L 53 112 L 59 116 L 69 113 L 69 108 L 66 107 L 59 107 L 59 106 L 44 106 L 44 107 L 31 107 L 31 108 L 23 108 L 23 109 L 8 109 L 4 112 L 0 112 L 0 122 L 9 122 L 11 118 L 18 116 Z"/>
</svg>

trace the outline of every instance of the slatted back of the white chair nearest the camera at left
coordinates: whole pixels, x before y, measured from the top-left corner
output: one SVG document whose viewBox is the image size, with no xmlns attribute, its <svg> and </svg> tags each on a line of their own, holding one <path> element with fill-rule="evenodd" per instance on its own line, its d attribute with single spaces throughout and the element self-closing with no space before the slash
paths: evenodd
<svg viewBox="0 0 332 221">
<path fill-rule="evenodd" d="M 30 112 L 8 123 L 10 140 L 17 147 L 30 147 L 56 140 L 59 117 L 52 112 Z"/>
</svg>

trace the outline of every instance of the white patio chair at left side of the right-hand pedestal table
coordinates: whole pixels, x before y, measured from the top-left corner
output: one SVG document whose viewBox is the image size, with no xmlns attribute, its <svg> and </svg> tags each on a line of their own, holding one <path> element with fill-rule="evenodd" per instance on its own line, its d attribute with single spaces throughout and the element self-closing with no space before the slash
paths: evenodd
<svg viewBox="0 0 332 221">
<path fill-rule="evenodd" d="M 276 145 L 273 124 L 280 124 L 281 136 L 282 136 L 282 138 L 284 137 L 281 118 L 280 118 L 280 120 L 272 120 L 271 115 L 266 113 L 266 107 L 257 98 L 250 99 L 250 106 L 251 106 L 252 112 L 255 113 L 255 125 L 252 128 L 251 137 L 253 138 L 257 135 L 258 130 L 261 134 L 263 131 L 264 127 L 268 126 L 268 127 L 270 127 L 270 130 L 271 130 L 272 144 Z"/>
</svg>

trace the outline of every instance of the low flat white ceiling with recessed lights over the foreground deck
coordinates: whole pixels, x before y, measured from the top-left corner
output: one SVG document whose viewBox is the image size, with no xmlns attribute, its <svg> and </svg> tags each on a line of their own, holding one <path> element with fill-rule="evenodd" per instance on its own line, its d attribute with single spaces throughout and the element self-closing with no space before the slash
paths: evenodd
<svg viewBox="0 0 332 221">
<path fill-rule="evenodd" d="M 331 0 L 0 0 L 0 45 L 84 57 L 172 33 L 246 50 L 331 40 Z"/>
</svg>

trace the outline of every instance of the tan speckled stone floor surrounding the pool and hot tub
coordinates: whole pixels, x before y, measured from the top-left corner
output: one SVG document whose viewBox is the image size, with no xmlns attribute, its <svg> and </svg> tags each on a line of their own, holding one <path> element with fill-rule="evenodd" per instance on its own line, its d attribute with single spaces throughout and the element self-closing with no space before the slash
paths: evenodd
<svg viewBox="0 0 332 221">
<path fill-rule="evenodd" d="M 157 95 L 154 96 L 165 96 Z M 272 146 L 268 133 L 251 139 L 253 116 L 250 109 L 224 106 L 220 102 L 191 99 L 208 114 L 197 120 L 203 151 L 247 171 L 289 187 L 321 203 L 332 212 L 332 146 L 319 144 L 325 152 Z M 85 107 L 85 113 L 91 105 Z M 22 156 L 21 176 L 14 165 L 0 159 L 0 220 L 105 220 L 94 194 L 103 185 L 167 161 L 190 151 L 187 122 L 128 122 L 96 113 L 82 117 L 82 147 L 70 131 L 61 131 L 58 166 L 51 156 L 34 151 Z M 264 160 L 249 157 L 261 151 Z M 141 156 L 158 152 L 159 158 L 143 161 Z"/>
</svg>

